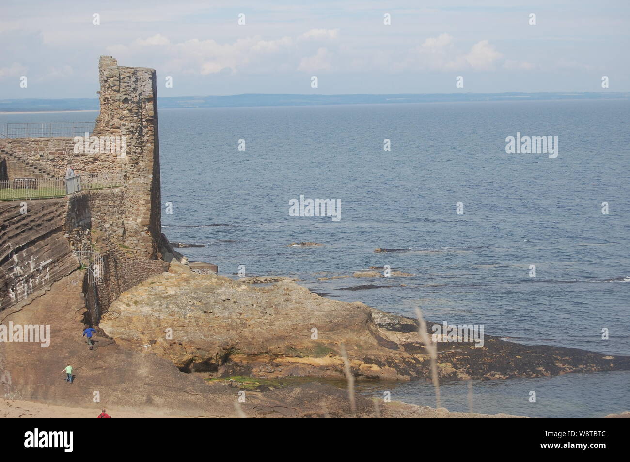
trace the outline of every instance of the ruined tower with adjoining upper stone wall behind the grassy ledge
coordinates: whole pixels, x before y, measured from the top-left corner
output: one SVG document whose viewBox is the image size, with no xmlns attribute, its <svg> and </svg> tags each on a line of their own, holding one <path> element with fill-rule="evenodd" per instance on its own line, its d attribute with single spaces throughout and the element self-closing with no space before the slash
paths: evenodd
<svg viewBox="0 0 630 462">
<path fill-rule="evenodd" d="M 110 56 L 101 56 L 98 67 L 101 111 L 92 136 L 124 137 L 124 154 L 76 153 L 74 138 L 2 138 L 0 160 L 6 159 L 9 179 L 64 177 L 70 165 L 79 175 L 125 174 L 125 199 L 118 204 L 120 220 L 108 227 L 115 230 L 110 237 L 136 257 L 157 259 L 161 257 L 161 191 L 156 71 L 120 67 Z"/>
</svg>

